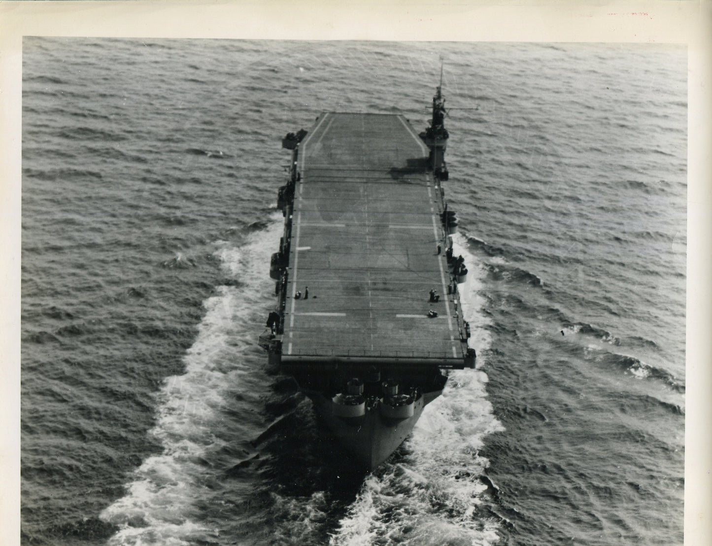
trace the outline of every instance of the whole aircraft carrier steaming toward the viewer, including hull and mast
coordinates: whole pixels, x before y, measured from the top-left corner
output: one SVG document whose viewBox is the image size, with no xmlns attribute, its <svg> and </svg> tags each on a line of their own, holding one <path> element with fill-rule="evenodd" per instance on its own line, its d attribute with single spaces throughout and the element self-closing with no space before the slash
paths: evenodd
<svg viewBox="0 0 712 546">
<path fill-rule="evenodd" d="M 278 303 L 260 345 L 369 470 L 411 433 L 447 370 L 475 366 L 444 200 L 444 102 L 438 87 L 422 133 L 402 115 L 323 113 L 282 140 L 292 156 L 270 267 Z"/>
</svg>

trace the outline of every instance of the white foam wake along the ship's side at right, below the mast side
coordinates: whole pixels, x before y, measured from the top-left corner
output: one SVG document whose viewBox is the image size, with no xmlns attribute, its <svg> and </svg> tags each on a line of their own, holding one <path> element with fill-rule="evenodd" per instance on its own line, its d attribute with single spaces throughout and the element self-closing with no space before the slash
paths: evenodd
<svg viewBox="0 0 712 546">
<path fill-rule="evenodd" d="M 465 240 L 455 235 L 454 250 L 469 269 L 459 293 L 479 367 L 490 344 L 488 319 L 480 311 L 484 269 Z M 443 395 L 426 407 L 407 441 L 412 453 L 365 480 L 332 546 L 490 545 L 498 540 L 498 522 L 478 512 L 486 490 L 479 476 L 488 465 L 478 452 L 487 434 L 503 430 L 486 398 L 486 382 L 479 369 L 450 375 Z"/>
</svg>

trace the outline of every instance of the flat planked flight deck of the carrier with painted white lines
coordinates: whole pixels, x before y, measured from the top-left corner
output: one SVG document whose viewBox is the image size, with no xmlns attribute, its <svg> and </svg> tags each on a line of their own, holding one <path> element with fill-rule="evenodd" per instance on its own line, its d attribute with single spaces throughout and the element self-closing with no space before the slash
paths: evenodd
<svg viewBox="0 0 712 546">
<path fill-rule="evenodd" d="M 283 355 L 462 361 L 428 154 L 402 115 L 318 118 L 298 154 Z"/>
</svg>

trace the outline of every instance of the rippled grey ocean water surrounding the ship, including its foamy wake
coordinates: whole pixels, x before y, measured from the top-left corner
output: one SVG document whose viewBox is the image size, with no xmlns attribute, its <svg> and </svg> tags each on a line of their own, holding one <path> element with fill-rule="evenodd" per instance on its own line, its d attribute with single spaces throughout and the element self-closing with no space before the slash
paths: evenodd
<svg viewBox="0 0 712 546">
<path fill-rule="evenodd" d="M 280 139 L 426 126 L 478 351 L 350 468 L 256 345 Z M 683 542 L 686 50 L 26 38 L 21 542 Z"/>
</svg>

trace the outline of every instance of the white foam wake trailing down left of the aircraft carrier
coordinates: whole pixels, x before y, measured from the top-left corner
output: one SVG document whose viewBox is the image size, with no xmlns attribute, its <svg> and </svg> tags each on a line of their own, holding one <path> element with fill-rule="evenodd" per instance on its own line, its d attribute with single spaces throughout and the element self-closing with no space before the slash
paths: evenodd
<svg viewBox="0 0 712 546">
<path fill-rule="evenodd" d="M 157 422 L 150 434 L 163 451 L 144 460 L 127 485 L 127 495 L 100 514 L 120 527 L 110 546 L 183 546 L 213 534 L 197 523 L 194 506 L 194 500 L 209 495 L 203 484 L 211 470 L 201 461 L 207 449 L 221 444 L 213 433 L 216 421 L 227 386 L 241 381 L 240 351 L 251 348 L 258 334 L 254 315 L 263 312 L 269 295 L 269 256 L 281 228 L 280 216 L 240 247 L 219 243 L 224 267 L 244 287 L 218 287 L 204 302 L 206 313 L 184 356 L 184 374 L 167 378 L 157 393 Z"/>
</svg>

